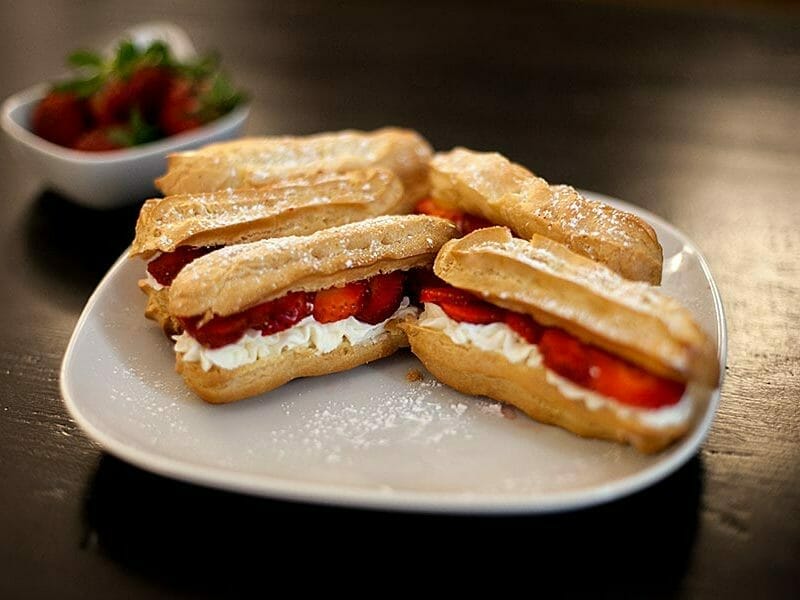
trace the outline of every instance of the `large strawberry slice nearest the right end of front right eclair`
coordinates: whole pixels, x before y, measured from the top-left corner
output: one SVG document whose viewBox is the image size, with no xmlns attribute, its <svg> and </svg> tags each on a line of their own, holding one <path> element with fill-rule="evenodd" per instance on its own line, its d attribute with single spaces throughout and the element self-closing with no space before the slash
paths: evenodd
<svg viewBox="0 0 800 600">
<path fill-rule="evenodd" d="M 591 362 L 589 387 L 624 404 L 659 408 L 676 404 L 686 386 L 648 373 L 625 360 L 597 348 L 589 349 Z"/>
</svg>

